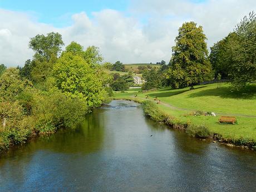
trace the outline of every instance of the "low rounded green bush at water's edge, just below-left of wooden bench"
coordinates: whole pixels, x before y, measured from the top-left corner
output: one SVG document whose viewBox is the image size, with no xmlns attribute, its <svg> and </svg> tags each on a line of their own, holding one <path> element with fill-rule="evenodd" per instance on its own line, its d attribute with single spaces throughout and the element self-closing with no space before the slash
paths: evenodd
<svg viewBox="0 0 256 192">
<path fill-rule="evenodd" d="M 211 135 L 210 130 L 206 125 L 188 125 L 186 133 L 193 137 L 209 137 Z"/>
</svg>

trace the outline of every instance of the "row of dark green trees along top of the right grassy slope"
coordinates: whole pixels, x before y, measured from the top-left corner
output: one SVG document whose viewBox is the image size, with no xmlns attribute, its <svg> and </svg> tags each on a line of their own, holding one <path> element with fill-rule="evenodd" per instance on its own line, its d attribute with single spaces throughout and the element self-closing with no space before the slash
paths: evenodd
<svg viewBox="0 0 256 192">
<path fill-rule="evenodd" d="M 145 71 L 142 88 L 194 88 L 204 81 L 229 80 L 232 87 L 242 90 L 256 80 L 256 16 L 245 16 L 234 31 L 210 47 L 206 45 L 203 27 L 185 22 L 172 47 L 171 60 L 159 70 Z"/>
</svg>

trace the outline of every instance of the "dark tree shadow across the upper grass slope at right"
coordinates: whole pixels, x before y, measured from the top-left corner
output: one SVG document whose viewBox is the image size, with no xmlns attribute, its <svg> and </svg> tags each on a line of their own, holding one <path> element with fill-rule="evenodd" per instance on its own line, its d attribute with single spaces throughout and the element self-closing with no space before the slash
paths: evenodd
<svg viewBox="0 0 256 192">
<path fill-rule="evenodd" d="M 231 87 L 211 88 L 196 93 L 189 97 L 218 96 L 230 99 L 256 99 L 256 85 L 248 85 L 241 91 L 233 91 Z"/>
</svg>

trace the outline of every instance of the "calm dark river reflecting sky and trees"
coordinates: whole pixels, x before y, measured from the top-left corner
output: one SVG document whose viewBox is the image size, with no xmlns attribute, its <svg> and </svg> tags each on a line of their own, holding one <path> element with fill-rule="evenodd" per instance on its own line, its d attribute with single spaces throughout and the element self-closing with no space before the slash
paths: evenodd
<svg viewBox="0 0 256 192">
<path fill-rule="evenodd" d="M 256 191 L 256 152 L 216 145 L 112 101 L 2 156 L 0 191 Z"/>
</svg>

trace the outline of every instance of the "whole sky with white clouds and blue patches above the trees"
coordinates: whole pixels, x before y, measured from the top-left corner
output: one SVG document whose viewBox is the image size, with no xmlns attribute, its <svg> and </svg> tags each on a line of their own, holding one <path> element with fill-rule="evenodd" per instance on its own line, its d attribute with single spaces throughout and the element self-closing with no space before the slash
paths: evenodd
<svg viewBox="0 0 256 192">
<path fill-rule="evenodd" d="M 0 0 L 0 63 L 23 66 L 29 38 L 52 31 L 65 45 L 99 47 L 105 61 L 169 61 L 183 22 L 203 26 L 209 47 L 250 11 L 255 0 Z"/>
</svg>

